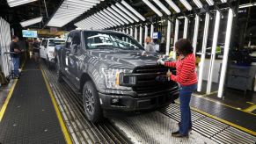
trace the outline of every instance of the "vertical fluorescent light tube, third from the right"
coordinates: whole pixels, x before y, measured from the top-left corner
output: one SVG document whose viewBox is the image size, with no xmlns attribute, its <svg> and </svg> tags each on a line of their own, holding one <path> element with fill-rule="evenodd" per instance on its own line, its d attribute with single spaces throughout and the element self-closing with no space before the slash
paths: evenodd
<svg viewBox="0 0 256 144">
<path fill-rule="evenodd" d="M 202 74 L 203 74 L 203 69 L 204 69 L 205 52 L 206 52 L 207 40 L 208 40 L 208 23 L 209 23 L 209 15 L 207 12 L 205 15 L 197 91 L 201 91 L 201 86 L 202 86 Z"/>
</svg>

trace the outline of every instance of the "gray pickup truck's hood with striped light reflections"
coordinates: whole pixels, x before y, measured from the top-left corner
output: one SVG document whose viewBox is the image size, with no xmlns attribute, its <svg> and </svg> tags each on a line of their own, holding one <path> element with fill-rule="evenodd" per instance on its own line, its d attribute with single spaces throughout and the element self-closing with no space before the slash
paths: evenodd
<svg viewBox="0 0 256 144">
<path fill-rule="evenodd" d="M 93 50 L 91 56 L 99 58 L 107 68 L 135 68 L 156 65 L 159 54 L 150 54 L 143 50 Z"/>
</svg>

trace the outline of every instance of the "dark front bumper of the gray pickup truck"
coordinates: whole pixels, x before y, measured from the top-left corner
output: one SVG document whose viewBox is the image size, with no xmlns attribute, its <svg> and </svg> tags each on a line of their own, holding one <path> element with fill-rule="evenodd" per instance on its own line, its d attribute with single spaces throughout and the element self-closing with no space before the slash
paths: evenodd
<svg viewBox="0 0 256 144">
<path fill-rule="evenodd" d="M 130 97 L 99 93 L 99 101 L 104 110 L 127 112 L 156 109 L 171 104 L 175 97 L 179 97 L 179 90 L 153 97 Z"/>
</svg>

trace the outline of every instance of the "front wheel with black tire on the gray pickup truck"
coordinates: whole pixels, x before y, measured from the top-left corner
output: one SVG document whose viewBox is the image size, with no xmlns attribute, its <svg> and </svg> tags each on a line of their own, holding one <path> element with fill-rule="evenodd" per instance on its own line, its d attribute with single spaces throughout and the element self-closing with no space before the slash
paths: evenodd
<svg viewBox="0 0 256 144">
<path fill-rule="evenodd" d="M 91 81 L 84 84 L 83 89 L 84 112 L 91 122 L 99 123 L 103 119 L 103 112 L 99 104 L 98 91 Z"/>
</svg>

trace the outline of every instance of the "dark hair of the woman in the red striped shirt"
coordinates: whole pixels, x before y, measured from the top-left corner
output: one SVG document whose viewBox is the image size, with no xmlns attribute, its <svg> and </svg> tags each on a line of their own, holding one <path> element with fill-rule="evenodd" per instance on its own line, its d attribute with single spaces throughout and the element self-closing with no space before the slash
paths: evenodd
<svg viewBox="0 0 256 144">
<path fill-rule="evenodd" d="M 193 47 L 190 41 L 187 39 L 179 39 L 175 43 L 175 48 L 179 54 L 183 54 L 184 56 L 186 56 L 187 54 L 193 53 Z"/>
</svg>

